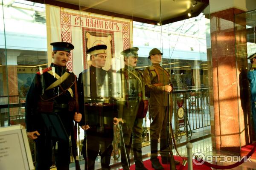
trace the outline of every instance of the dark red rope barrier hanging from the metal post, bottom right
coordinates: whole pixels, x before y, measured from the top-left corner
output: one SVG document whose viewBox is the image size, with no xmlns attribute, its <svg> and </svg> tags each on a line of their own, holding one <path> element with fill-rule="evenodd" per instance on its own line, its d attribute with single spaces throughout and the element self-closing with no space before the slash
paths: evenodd
<svg viewBox="0 0 256 170">
<path fill-rule="evenodd" d="M 198 161 L 199 163 L 203 163 L 207 167 L 212 167 L 212 168 L 221 169 L 221 170 L 227 170 L 227 169 L 231 169 L 231 168 L 237 167 L 237 166 L 241 165 L 242 163 L 244 163 L 244 161 L 247 160 L 247 157 L 252 156 L 252 154 L 255 152 L 255 150 L 256 150 L 256 146 L 254 146 L 253 149 L 245 156 L 245 159 L 241 159 L 240 161 L 238 161 L 238 162 L 236 162 L 234 164 L 231 164 L 231 165 L 215 165 L 215 164 L 210 164 L 209 162 L 204 161 L 203 159 L 201 159 L 198 156 L 195 156 L 195 160 Z"/>
</svg>

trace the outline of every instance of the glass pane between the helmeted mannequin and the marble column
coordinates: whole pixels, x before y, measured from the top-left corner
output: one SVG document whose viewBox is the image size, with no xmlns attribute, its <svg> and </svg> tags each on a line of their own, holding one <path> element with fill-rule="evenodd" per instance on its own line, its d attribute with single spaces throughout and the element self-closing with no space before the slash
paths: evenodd
<svg viewBox="0 0 256 170">
<path fill-rule="evenodd" d="M 213 118 L 209 29 L 209 6 L 197 17 L 161 28 L 163 59 L 160 65 L 171 75 L 174 88 L 170 119 L 175 141 L 177 146 L 182 146 L 200 140 L 195 143 L 193 153 L 198 152 L 198 143 L 206 144 L 209 148 L 212 146 L 209 138 L 210 120 Z M 179 148 L 178 152 L 187 154 L 184 147 Z M 211 155 L 212 149 L 200 152 Z"/>
</svg>

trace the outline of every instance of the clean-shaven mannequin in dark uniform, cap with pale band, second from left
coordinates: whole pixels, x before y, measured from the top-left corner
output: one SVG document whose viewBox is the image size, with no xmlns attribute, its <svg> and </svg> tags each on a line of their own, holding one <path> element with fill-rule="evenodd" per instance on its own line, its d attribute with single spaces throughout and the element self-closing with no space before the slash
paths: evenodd
<svg viewBox="0 0 256 170">
<path fill-rule="evenodd" d="M 83 156 L 88 170 L 94 170 L 97 155 L 101 156 L 102 170 L 110 170 L 110 159 L 113 150 L 113 118 L 116 117 L 116 105 L 112 97 L 112 75 L 105 71 L 107 46 L 96 45 L 87 50 L 90 54 L 90 70 L 79 74 L 79 111 L 83 118 L 81 127 L 86 130 L 87 150 Z M 90 127 L 90 128 L 89 128 Z M 89 128 L 89 129 L 88 129 Z M 86 158 L 87 152 L 87 158 Z"/>
</svg>

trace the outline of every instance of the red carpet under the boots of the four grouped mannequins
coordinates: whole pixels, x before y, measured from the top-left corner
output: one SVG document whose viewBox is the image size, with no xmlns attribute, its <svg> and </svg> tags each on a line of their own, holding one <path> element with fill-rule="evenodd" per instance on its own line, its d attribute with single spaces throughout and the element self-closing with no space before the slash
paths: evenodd
<svg viewBox="0 0 256 170">
<path fill-rule="evenodd" d="M 160 163 L 162 163 L 161 156 L 158 156 L 158 159 L 159 159 Z M 177 161 L 180 161 L 180 164 L 176 166 L 176 168 L 178 170 L 180 168 L 181 164 L 182 164 L 182 158 L 180 158 L 180 156 L 174 156 L 174 159 L 177 160 Z M 146 161 L 143 161 L 143 163 L 144 163 L 144 166 L 148 170 L 154 170 L 154 168 L 151 167 L 150 159 L 148 159 Z M 170 166 L 168 164 L 162 164 L 162 165 L 163 165 L 164 170 L 169 170 L 170 169 Z M 130 169 L 135 170 L 135 164 L 131 165 Z M 188 164 L 186 164 L 184 170 L 187 170 L 187 169 L 188 169 Z M 205 165 L 198 166 L 198 165 L 193 164 L 193 170 L 212 170 L 212 169 L 205 166 Z"/>
</svg>

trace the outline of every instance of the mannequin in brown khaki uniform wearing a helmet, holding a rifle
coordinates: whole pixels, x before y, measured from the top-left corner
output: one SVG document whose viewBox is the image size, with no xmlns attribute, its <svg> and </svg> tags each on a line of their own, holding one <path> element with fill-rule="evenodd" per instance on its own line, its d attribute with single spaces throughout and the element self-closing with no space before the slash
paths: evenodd
<svg viewBox="0 0 256 170">
<path fill-rule="evenodd" d="M 168 93 L 172 91 L 170 83 L 170 74 L 166 69 L 160 66 L 162 61 L 160 50 L 153 48 L 149 52 L 148 58 L 152 65 L 144 70 L 145 94 L 150 94 L 149 97 L 149 113 L 152 119 L 150 125 L 150 146 L 151 146 L 151 163 L 156 170 L 163 170 L 163 166 L 157 159 L 157 143 L 160 137 L 160 155 L 163 164 L 170 163 L 169 148 L 167 144 L 167 105 Z M 169 110 L 172 113 L 172 96 L 169 96 Z M 172 115 L 170 115 L 171 119 Z M 175 164 L 178 164 L 175 163 Z"/>
</svg>

